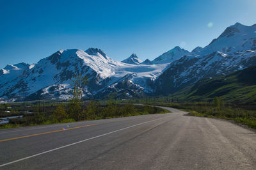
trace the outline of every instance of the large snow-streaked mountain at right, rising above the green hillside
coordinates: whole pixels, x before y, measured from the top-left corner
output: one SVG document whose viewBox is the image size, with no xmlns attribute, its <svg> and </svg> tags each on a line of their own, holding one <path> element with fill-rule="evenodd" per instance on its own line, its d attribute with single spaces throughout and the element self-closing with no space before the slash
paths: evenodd
<svg viewBox="0 0 256 170">
<path fill-rule="evenodd" d="M 173 61 L 154 82 L 157 93 L 173 93 L 202 78 L 256 65 L 256 26 L 236 23 L 204 47 Z"/>
</svg>

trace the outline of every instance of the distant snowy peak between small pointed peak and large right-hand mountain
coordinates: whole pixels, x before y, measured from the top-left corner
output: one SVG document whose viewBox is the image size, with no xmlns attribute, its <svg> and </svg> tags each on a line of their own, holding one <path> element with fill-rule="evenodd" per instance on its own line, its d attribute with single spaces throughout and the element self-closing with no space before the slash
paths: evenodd
<svg viewBox="0 0 256 170">
<path fill-rule="evenodd" d="M 164 63 L 172 63 L 173 61 L 180 59 L 182 56 L 189 55 L 188 50 L 180 49 L 179 46 L 174 47 L 172 50 L 168 50 L 168 52 L 164 52 L 161 56 L 154 59 L 152 63 L 154 64 L 164 64 Z"/>
</svg>

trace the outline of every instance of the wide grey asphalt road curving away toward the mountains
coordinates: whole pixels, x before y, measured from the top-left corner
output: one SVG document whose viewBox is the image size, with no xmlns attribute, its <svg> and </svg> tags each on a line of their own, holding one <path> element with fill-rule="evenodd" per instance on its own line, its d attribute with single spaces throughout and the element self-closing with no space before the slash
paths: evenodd
<svg viewBox="0 0 256 170">
<path fill-rule="evenodd" d="M 255 132 L 164 109 L 0 130 L 0 169 L 256 169 Z"/>
</svg>

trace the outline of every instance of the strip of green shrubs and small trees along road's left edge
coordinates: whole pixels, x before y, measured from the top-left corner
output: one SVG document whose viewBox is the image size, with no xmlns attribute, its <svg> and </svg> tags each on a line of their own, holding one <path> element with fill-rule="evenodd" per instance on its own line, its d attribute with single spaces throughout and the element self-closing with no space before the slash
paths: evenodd
<svg viewBox="0 0 256 170">
<path fill-rule="evenodd" d="M 54 107 L 54 106 L 53 106 Z M 164 109 L 149 105 L 132 105 L 116 104 L 109 102 L 102 104 L 100 102 L 91 101 L 88 104 L 74 105 L 58 104 L 54 111 L 52 108 L 42 106 L 35 114 L 26 114 L 23 118 L 11 119 L 9 124 L 12 125 L 44 125 L 51 123 L 66 123 L 82 120 L 99 120 L 104 118 L 116 118 L 124 116 L 135 116 L 140 114 L 156 114 L 165 113 Z M 45 111 L 43 111 L 45 109 Z M 52 112 L 49 112 L 52 111 Z"/>
</svg>

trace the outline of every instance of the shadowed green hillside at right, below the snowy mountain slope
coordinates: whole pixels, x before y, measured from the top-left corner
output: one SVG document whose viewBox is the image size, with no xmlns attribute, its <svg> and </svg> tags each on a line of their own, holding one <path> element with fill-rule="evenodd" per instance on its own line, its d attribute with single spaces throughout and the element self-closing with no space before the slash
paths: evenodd
<svg viewBox="0 0 256 170">
<path fill-rule="evenodd" d="M 256 66 L 213 79 L 202 79 L 173 96 L 200 101 L 221 97 L 226 102 L 256 104 Z"/>
</svg>

